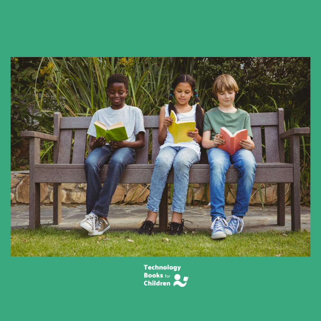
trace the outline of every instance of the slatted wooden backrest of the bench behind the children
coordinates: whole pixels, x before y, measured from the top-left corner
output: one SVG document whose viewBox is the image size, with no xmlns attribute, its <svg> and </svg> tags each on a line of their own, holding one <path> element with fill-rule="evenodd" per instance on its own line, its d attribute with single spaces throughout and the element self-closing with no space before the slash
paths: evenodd
<svg viewBox="0 0 321 321">
<path fill-rule="evenodd" d="M 279 134 L 284 132 L 283 108 L 278 108 L 274 113 L 249 114 L 255 149 L 252 151 L 257 163 L 262 163 L 262 134 L 261 127 L 265 130 L 265 162 L 284 162 L 284 143 L 279 139 Z M 86 152 L 87 130 L 92 117 L 61 117 L 60 113 L 54 115 L 54 135 L 58 136 L 55 145 L 54 162 L 57 164 L 83 164 Z M 152 131 L 152 164 L 159 153 L 158 143 L 158 116 L 144 116 L 145 147 L 136 150 L 135 164 L 148 164 L 149 133 Z M 73 137 L 74 129 L 74 137 Z M 73 142 L 74 138 L 74 142 Z M 91 140 L 91 137 L 90 137 Z M 88 154 L 91 150 L 89 149 Z"/>
</svg>

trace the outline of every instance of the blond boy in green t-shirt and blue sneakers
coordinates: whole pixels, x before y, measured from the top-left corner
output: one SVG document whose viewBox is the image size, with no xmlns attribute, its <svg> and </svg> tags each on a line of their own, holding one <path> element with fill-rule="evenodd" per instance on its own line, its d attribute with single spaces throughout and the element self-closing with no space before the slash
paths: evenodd
<svg viewBox="0 0 321 321">
<path fill-rule="evenodd" d="M 218 76 L 213 83 L 213 93 L 219 100 L 219 106 L 210 109 L 204 115 L 202 145 L 207 148 L 207 158 L 210 163 L 212 239 L 226 238 L 226 235 L 235 234 L 240 225 L 241 230 L 243 229 L 242 218 L 248 211 L 256 172 L 256 162 L 250 152 L 254 149 L 250 117 L 245 110 L 233 106 L 238 90 L 238 85 L 232 76 L 228 74 Z M 239 142 L 241 149 L 233 155 L 217 148 L 225 143 L 221 138 L 221 127 L 227 128 L 232 134 L 247 129 L 247 139 Z M 232 216 L 227 222 L 224 214 L 224 188 L 225 175 L 231 164 L 239 171 L 239 180 Z"/>
</svg>

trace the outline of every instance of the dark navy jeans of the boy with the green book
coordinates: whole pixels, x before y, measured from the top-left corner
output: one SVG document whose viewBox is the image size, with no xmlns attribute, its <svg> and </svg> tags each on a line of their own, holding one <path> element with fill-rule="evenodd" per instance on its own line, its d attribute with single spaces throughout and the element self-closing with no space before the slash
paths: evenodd
<svg viewBox="0 0 321 321">
<path fill-rule="evenodd" d="M 107 217 L 111 199 L 125 166 L 133 164 L 134 160 L 135 151 L 128 147 L 111 150 L 109 145 L 104 145 L 89 154 L 85 161 L 87 214 L 92 212 Z M 101 187 L 99 172 L 108 161 L 107 177 Z"/>
</svg>

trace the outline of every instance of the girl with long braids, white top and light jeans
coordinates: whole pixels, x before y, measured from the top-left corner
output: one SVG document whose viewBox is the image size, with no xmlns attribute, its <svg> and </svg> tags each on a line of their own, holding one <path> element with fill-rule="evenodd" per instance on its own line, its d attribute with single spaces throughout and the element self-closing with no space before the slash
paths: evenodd
<svg viewBox="0 0 321 321">
<path fill-rule="evenodd" d="M 169 223 L 169 235 L 183 233 L 186 195 L 188 189 L 189 168 L 198 163 L 201 156 L 200 144 L 203 134 L 204 110 L 199 105 L 195 80 L 190 75 L 180 75 L 172 82 L 168 105 L 160 109 L 158 142 L 161 144 L 160 152 L 155 160 L 154 171 L 151 179 L 150 194 L 146 208 L 149 210 L 147 218 L 139 229 L 139 234 L 151 235 L 155 225 L 160 199 L 163 194 L 169 170 L 174 168 L 174 191 L 171 209 L 172 220 Z M 195 105 L 190 106 L 189 101 L 195 95 Z M 176 104 L 173 104 L 174 98 Z M 168 127 L 173 119 L 169 117 L 171 110 L 175 112 L 179 120 L 194 120 L 196 127 L 194 132 L 188 132 L 187 136 L 193 138 L 192 142 L 173 142 L 173 136 Z"/>
</svg>

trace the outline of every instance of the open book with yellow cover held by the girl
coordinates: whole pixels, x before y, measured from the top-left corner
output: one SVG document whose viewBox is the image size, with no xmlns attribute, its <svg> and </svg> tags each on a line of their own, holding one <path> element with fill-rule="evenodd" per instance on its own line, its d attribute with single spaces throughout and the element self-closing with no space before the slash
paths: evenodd
<svg viewBox="0 0 321 321">
<path fill-rule="evenodd" d="M 170 111 L 170 118 L 173 119 L 173 123 L 168 127 L 168 131 L 173 136 L 174 144 L 193 141 L 193 138 L 188 137 L 187 133 L 189 131 L 194 132 L 195 120 L 177 120 L 177 116 L 172 110 Z"/>
</svg>

